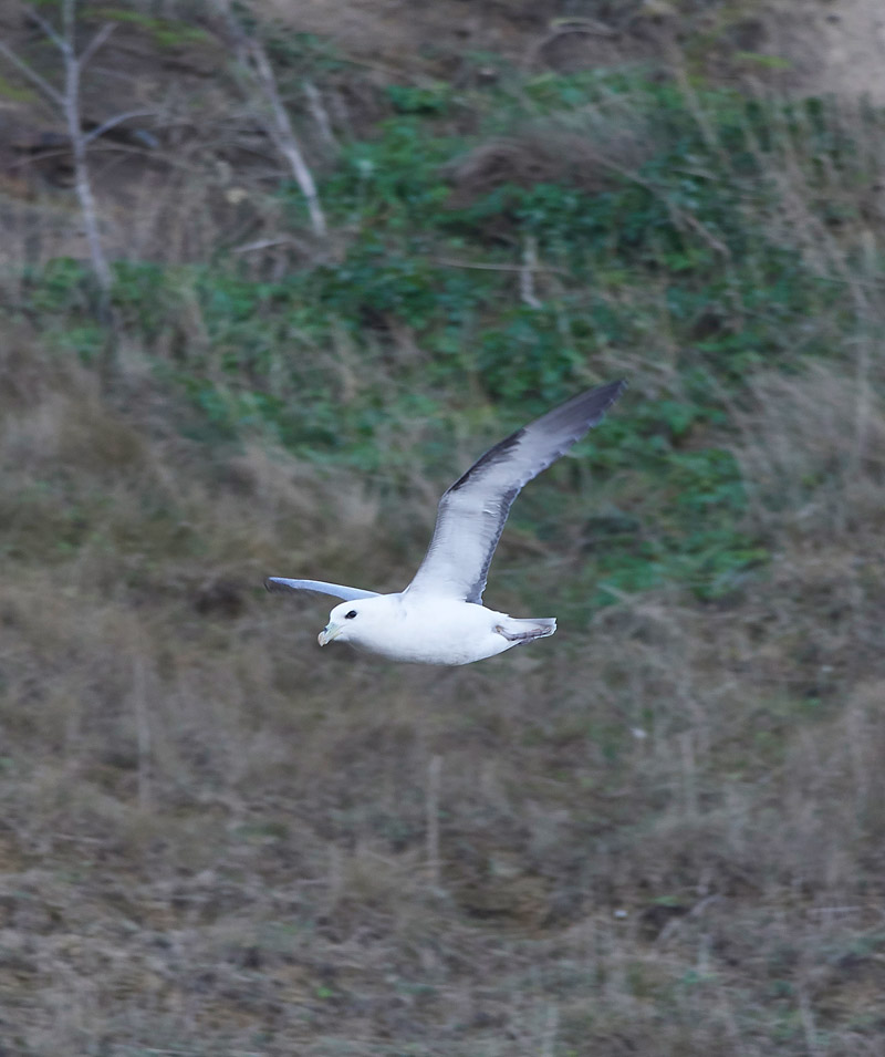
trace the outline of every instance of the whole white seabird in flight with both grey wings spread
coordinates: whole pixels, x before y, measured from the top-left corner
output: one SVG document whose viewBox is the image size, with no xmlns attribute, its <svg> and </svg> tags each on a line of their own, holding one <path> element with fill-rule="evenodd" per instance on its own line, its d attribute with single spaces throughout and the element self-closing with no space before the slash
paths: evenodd
<svg viewBox="0 0 885 1057">
<path fill-rule="evenodd" d="M 489 564 L 522 486 L 598 425 L 626 384 L 580 393 L 478 458 L 439 500 L 430 547 L 405 591 L 377 594 L 281 577 L 269 577 L 268 590 L 344 599 L 320 632 L 320 645 L 337 639 L 394 661 L 470 664 L 552 635 L 555 618 L 518 619 L 482 604 Z"/>
</svg>

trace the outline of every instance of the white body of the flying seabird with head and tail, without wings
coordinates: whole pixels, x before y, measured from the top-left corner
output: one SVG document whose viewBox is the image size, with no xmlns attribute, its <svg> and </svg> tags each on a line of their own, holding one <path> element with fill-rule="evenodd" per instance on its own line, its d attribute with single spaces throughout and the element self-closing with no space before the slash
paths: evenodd
<svg viewBox="0 0 885 1057">
<path fill-rule="evenodd" d="M 555 630 L 550 618 L 520 620 L 475 602 L 404 591 L 336 605 L 320 643 L 336 639 L 392 661 L 470 664 Z"/>
</svg>

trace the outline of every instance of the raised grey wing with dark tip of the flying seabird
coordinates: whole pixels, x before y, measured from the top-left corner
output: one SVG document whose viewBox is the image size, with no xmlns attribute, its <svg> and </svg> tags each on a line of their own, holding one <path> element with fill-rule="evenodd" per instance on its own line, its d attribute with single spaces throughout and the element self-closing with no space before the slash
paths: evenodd
<svg viewBox="0 0 885 1057">
<path fill-rule="evenodd" d="M 408 591 L 482 601 L 494 548 L 523 485 L 602 422 L 627 383 L 581 393 L 496 444 L 439 500 L 430 547 Z"/>
</svg>

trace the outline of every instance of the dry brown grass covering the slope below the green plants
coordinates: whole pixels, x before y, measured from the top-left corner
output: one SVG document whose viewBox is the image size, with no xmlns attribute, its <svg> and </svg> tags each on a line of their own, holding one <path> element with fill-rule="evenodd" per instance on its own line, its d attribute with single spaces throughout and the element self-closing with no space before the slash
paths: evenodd
<svg viewBox="0 0 885 1057">
<path fill-rule="evenodd" d="M 770 577 L 447 672 L 320 654 L 323 604 L 259 587 L 395 586 L 355 481 L 7 338 L 8 1051 L 878 1051 L 885 417 L 858 452 L 855 383 L 754 383 Z"/>
</svg>

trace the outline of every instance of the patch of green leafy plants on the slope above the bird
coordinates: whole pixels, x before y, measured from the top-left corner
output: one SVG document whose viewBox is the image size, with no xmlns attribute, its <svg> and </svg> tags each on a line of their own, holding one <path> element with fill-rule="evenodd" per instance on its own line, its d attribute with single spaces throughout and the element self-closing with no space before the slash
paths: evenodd
<svg viewBox="0 0 885 1057">
<path fill-rule="evenodd" d="M 519 87 L 389 87 L 393 116 L 348 144 L 321 184 L 332 224 L 347 232 L 340 258 L 274 280 L 223 252 L 200 266 L 121 262 L 122 325 L 148 350 L 160 336 L 174 350 L 153 353 L 158 377 L 218 435 L 267 434 L 300 457 L 367 473 L 384 465 L 392 481 L 404 459 L 440 481 L 456 471 L 452 438 L 492 421 L 477 417 L 478 405 L 494 406 L 500 429 L 594 381 L 633 375 L 654 398 L 628 404 L 577 453 L 601 475 L 637 483 L 624 509 L 606 512 L 618 529 L 593 547 L 577 594 L 591 610 L 614 597 L 610 587 L 676 582 L 718 598 L 766 559 L 726 450 L 727 405 L 758 367 L 831 355 L 831 332 L 810 321 L 847 311 L 800 247 L 770 237 L 773 128 L 802 134 L 811 167 L 840 165 L 846 144 L 815 102 L 772 114 L 699 90 L 689 106 L 677 86 L 642 73 L 544 75 Z M 457 131 L 466 112 L 471 136 Z M 575 135 L 587 112 L 602 115 L 596 127 L 628 115 L 622 154 L 654 125 L 635 169 L 600 157 L 595 175 L 503 179 L 452 204 L 455 159 L 508 132 L 529 152 L 518 138 L 528 122 Z M 299 225 L 296 189 L 282 194 Z M 531 307 L 517 289 L 527 239 L 540 261 Z M 29 297 L 88 359 L 102 338 L 85 286 L 80 267 L 55 261 L 31 277 Z M 181 332 L 194 313 L 197 341 Z M 653 372 L 637 376 L 639 363 Z"/>
</svg>

